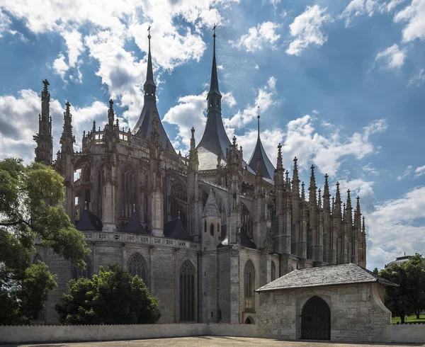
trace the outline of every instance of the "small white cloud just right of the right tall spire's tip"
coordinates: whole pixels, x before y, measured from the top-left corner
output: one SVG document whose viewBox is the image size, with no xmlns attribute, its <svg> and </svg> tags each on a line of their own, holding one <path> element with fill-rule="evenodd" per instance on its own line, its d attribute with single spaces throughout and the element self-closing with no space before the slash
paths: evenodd
<svg viewBox="0 0 425 347">
<path fill-rule="evenodd" d="M 276 49 L 276 42 L 278 42 L 280 35 L 276 34 L 279 28 L 277 23 L 271 21 L 261 23 L 256 27 L 253 26 L 248 29 L 248 33 L 242 35 L 236 43 L 230 41 L 233 47 L 244 48 L 246 52 L 255 52 L 261 50 L 263 44 L 268 42 L 273 49 Z"/>
</svg>

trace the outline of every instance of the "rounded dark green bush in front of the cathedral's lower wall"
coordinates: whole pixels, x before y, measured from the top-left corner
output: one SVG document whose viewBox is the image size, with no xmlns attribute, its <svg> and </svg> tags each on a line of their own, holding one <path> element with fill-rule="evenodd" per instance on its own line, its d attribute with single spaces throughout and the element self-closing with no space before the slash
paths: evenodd
<svg viewBox="0 0 425 347">
<path fill-rule="evenodd" d="M 92 279 L 70 280 L 55 309 L 63 324 L 149 324 L 161 317 L 158 301 L 139 276 L 118 265 Z"/>
</svg>

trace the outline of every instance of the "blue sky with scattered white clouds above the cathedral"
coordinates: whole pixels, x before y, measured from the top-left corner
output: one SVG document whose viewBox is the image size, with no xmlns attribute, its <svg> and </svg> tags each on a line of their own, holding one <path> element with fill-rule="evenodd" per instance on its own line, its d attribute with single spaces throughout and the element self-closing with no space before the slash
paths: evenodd
<svg viewBox="0 0 425 347">
<path fill-rule="evenodd" d="M 157 107 L 177 150 L 206 121 L 217 24 L 222 117 L 249 161 L 276 164 L 361 198 L 368 268 L 425 251 L 425 0 L 0 0 L 0 159 L 34 159 L 42 80 L 54 153 L 64 104 L 76 150 L 113 98 L 132 129 L 143 106 L 147 28 Z"/>
</svg>

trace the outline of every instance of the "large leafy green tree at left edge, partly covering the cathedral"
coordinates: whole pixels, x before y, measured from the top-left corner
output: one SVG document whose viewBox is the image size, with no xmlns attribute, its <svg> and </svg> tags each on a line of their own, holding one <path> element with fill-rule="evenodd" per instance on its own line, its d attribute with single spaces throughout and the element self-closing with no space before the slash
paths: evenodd
<svg viewBox="0 0 425 347">
<path fill-rule="evenodd" d="M 84 267 L 89 254 L 60 205 L 62 177 L 48 166 L 0 161 L 0 324 L 28 323 L 56 286 L 45 263 L 31 263 L 35 239 Z"/>
</svg>

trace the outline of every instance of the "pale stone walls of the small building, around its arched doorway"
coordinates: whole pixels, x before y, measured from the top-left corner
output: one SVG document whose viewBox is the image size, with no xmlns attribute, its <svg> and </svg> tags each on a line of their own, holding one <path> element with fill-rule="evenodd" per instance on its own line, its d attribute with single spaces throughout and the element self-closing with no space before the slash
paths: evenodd
<svg viewBox="0 0 425 347">
<path fill-rule="evenodd" d="M 362 283 L 270 292 L 257 313 L 259 334 L 300 339 L 302 307 L 318 296 L 331 311 L 332 341 L 383 341 L 391 312 L 380 300 L 382 291 L 378 283 Z"/>
</svg>

